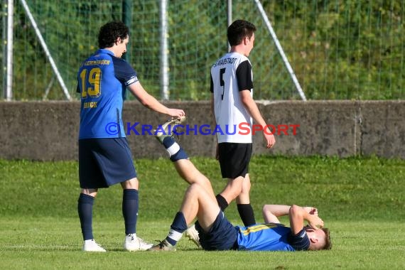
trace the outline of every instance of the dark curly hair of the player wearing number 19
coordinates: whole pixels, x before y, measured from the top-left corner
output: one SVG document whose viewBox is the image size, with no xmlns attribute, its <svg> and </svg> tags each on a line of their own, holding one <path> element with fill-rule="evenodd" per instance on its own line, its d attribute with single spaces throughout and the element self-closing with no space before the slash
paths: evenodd
<svg viewBox="0 0 405 270">
<path fill-rule="evenodd" d="M 123 40 L 127 36 L 129 36 L 128 26 L 121 21 L 110 21 L 100 27 L 99 48 L 110 48 L 117 41 L 117 38 Z"/>
</svg>

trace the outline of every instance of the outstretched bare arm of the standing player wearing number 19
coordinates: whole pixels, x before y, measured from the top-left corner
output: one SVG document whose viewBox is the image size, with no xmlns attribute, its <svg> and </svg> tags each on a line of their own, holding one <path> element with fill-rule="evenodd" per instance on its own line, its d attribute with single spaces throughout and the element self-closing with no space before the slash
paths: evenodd
<svg viewBox="0 0 405 270">
<path fill-rule="evenodd" d="M 128 86 L 129 91 L 141 102 L 146 108 L 151 109 L 161 114 L 168 114 L 171 117 L 183 117 L 185 115 L 183 109 L 171 109 L 158 102 L 158 100 L 149 95 L 139 81 Z"/>
</svg>

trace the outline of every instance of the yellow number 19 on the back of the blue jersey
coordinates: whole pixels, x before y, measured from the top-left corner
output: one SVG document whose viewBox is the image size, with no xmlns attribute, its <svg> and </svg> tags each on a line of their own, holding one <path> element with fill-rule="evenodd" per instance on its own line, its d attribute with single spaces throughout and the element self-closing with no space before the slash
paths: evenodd
<svg viewBox="0 0 405 270">
<path fill-rule="evenodd" d="M 100 81 L 102 72 L 100 68 L 92 68 L 90 71 L 87 69 L 80 72 L 80 79 L 82 80 L 82 99 L 90 97 L 99 97 L 101 95 Z"/>
</svg>

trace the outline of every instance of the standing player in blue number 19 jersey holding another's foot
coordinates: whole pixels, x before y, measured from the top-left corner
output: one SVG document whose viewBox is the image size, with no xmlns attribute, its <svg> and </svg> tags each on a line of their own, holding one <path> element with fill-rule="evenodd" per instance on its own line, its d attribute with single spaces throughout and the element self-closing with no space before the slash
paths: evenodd
<svg viewBox="0 0 405 270">
<path fill-rule="evenodd" d="M 146 250 L 152 246 L 136 236 L 139 181 L 125 138 L 122 121 L 124 92 L 128 89 L 144 107 L 172 117 L 173 124 L 185 116 L 183 109 L 170 109 L 144 90 L 136 71 L 121 59 L 129 42 L 129 28 L 119 21 L 99 29 L 99 50 L 77 72 L 81 95 L 79 131 L 80 217 L 85 252 L 105 252 L 93 237 L 92 209 L 99 188 L 121 184 L 125 224 L 124 249 Z"/>
</svg>

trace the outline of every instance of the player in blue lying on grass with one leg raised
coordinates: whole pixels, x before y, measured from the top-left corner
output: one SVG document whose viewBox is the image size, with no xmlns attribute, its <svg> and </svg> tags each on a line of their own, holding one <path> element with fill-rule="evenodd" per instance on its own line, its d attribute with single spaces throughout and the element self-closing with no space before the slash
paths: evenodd
<svg viewBox="0 0 405 270">
<path fill-rule="evenodd" d="M 183 232 L 197 217 L 195 228 L 205 250 L 247 250 L 247 251 L 296 251 L 330 249 L 328 229 L 322 229 L 323 220 L 313 207 L 292 205 L 266 205 L 266 222 L 249 227 L 233 226 L 217 204 L 212 188 L 199 184 L 199 178 L 207 179 L 187 154 L 166 134 L 167 125 L 156 130 L 156 137 L 165 146 L 178 174 L 190 183 L 185 191 L 183 203 L 175 215 L 168 236 L 151 251 L 173 251 Z M 290 227 L 279 223 L 277 217 L 288 215 Z M 308 226 L 304 226 L 304 221 Z"/>
</svg>

